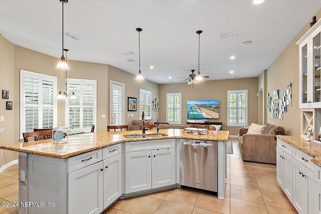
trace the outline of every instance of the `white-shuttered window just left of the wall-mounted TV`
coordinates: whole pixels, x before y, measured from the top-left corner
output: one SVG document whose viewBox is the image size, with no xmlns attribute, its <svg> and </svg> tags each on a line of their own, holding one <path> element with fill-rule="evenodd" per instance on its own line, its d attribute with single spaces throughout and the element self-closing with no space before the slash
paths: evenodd
<svg viewBox="0 0 321 214">
<path fill-rule="evenodd" d="M 182 93 L 166 94 L 167 122 L 181 124 Z"/>
</svg>

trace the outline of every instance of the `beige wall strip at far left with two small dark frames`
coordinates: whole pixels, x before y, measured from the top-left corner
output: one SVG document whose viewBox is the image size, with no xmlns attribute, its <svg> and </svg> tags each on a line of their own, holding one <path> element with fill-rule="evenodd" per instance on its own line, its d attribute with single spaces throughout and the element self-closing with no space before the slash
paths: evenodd
<svg viewBox="0 0 321 214">
<path fill-rule="evenodd" d="M 15 96 L 19 93 L 19 87 L 16 86 L 17 74 L 14 72 L 14 67 L 15 45 L 0 34 L 0 92 L 2 93 L 2 90 L 9 91 L 8 100 L 2 99 L 2 95 L 0 98 L 0 115 L 5 116 L 5 121 L 0 122 L 0 128 L 5 129 L 0 133 L 0 145 L 18 143 L 19 138 L 19 130 L 15 129 L 15 127 L 19 127 L 19 121 L 14 119 L 17 114 L 19 115 L 19 97 Z M 12 110 L 6 110 L 7 101 L 13 102 Z M 15 159 L 18 159 L 18 152 L 1 149 L 0 166 Z"/>
</svg>

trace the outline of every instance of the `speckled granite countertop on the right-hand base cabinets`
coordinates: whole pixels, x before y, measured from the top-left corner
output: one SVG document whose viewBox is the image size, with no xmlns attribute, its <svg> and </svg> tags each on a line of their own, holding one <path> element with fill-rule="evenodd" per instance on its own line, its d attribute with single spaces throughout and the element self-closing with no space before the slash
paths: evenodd
<svg viewBox="0 0 321 214">
<path fill-rule="evenodd" d="M 313 157 L 311 162 L 321 166 L 321 147 L 310 144 L 308 141 L 305 141 L 304 138 L 299 136 L 277 135 L 276 137 L 310 155 Z"/>
</svg>

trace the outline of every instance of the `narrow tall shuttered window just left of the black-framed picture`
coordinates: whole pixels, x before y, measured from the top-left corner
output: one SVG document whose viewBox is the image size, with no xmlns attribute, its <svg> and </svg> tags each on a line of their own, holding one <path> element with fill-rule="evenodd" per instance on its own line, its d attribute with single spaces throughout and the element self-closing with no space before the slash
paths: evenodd
<svg viewBox="0 0 321 214">
<path fill-rule="evenodd" d="M 110 81 L 110 124 L 124 125 L 124 91 L 125 85 Z"/>
</svg>

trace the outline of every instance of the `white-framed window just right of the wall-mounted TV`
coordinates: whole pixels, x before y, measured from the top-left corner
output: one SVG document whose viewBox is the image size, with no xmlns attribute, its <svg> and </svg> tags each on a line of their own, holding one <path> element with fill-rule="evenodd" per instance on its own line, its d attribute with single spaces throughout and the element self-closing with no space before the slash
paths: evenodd
<svg viewBox="0 0 321 214">
<path fill-rule="evenodd" d="M 227 91 L 227 125 L 247 125 L 247 90 Z"/>
</svg>

